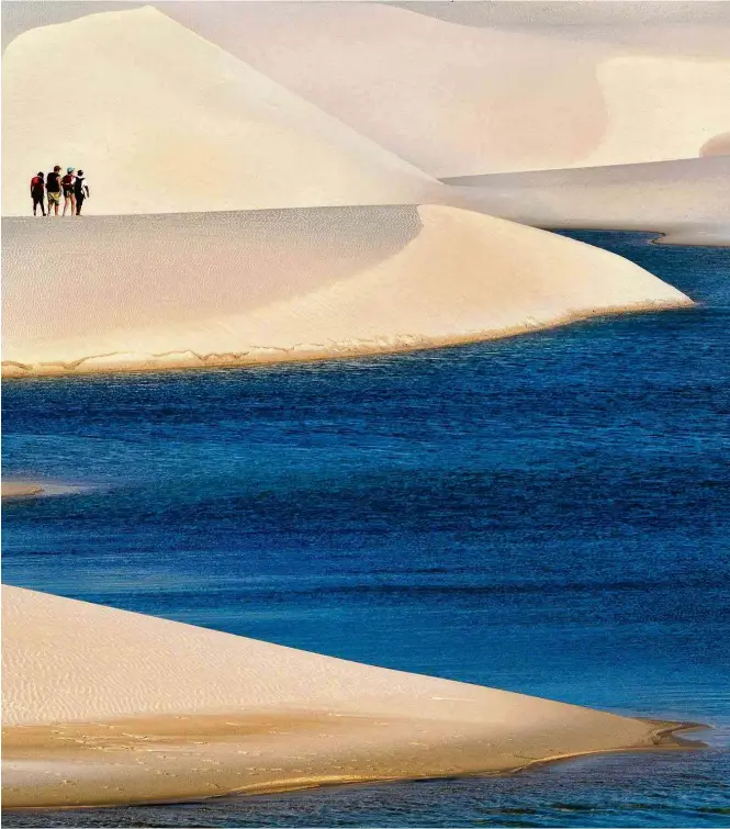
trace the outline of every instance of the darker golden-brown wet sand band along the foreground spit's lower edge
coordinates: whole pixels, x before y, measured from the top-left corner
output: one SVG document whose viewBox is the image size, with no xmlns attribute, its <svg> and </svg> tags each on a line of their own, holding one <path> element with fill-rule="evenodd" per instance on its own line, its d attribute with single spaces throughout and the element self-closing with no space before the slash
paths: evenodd
<svg viewBox="0 0 730 829">
<path fill-rule="evenodd" d="M 203 720 L 206 716 L 210 719 L 216 720 L 242 720 L 242 715 L 235 712 L 218 715 L 199 715 L 198 718 L 178 716 L 175 719 L 188 721 L 190 719 Z M 292 721 L 296 719 L 299 719 L 300 725 L 304 725 L 300 733 L 300 742 L 288 740 L 287 751 L 307 753 L 306 750 L 314 747 L 316 741 L 311 739 L 312 733 L 306 733 L 310 726 L 316 728 L 317 731 L 326 729 L 327 732 L 325 735 L 319 733 L 318 737 L 326 737 L 328 741 L 334 739 L 337 743 L 336 749 L 334 752 L 330 750 L 329 753 L 321 752 L 316 755 L 315 760 L 307 761 L 311 763 L 308 766 L 306 762 L 302 762 L 301 757 L 288 759 L 281 751 L 279 753 L 270 752 L 263 761 L 256 761 L 257 769 L 258 763 L 261 764 L 261 768 L 255 774 L 259 776 L 263 775 L 266 778 L 250 781 L 240 785 L 245 771 L 249 772 L 249 777 L 251 776 L 251 768 L 244 768 L 244 764 L 246 762 L 250 763 L 251 760 L 242 761 L 239 755 L 256 755 L 257 752 L 252 749 L 260 749 L 259 755 L 260 753 L 266 755 L 267 748 L 270 748 L 267 747 L 266 739 L 254 747 L 246 741 L 239 740 L 231 743 L 229 741 L 222 740 L 217 744 L 209 744 L 204 750 L 196 750 L 191 747 L 189 740 L 186 740 L 180 735 L 177 740 L 164 743 L 156 743 L 154 738 L 135 735 L 135 718 L 98 724 L 69 722 L 49 724 L 47 726 L 14 726 L 3 729 L 3 763 L 12 764 L 15 762 L 22 764 L 25 761 L 31 766 L 34 763 L 44 768 L 49 765 L 60 771 L 52 772 L 45 769 L 45 775 L 63 776 L 67 774 L 70 776 L 75 772 L 77 775 L 79 774 L 79 770 L 85 765 L 83 753 L 85 751 L 89 752 L 89 746 L 92 741 L 94 741 L 94 744 L 91 750 L 104 752 L 106 757 L 104 758 L 104 762 L 93 764 L 96 774 L 87 776 L 80 784 L 65 777 L 61 781 L 61 785 L 65 785 L 63 791 L 54 788 L 53 785 L 48 785 L 47 783 L 45 786 L 43 784 L 38 785 L 40 769 L 26 768 L 25 777 L 22 770 L 16 776 L 13 774 L 15 770 L 4 770 L 3 778 L 7 781 L 10 776 L 16 785 L 10 786 L 7 782 L 4 783 L 3 810 L 22 813 L 54 809 L 112 808 L 123 805 L 179 804 L 236 795 L 246 797 L 283 794 L 329 786 L 369 785 L 385 782 L 405 783 L 423 780 L 445 780 L 449 777 L 506 776 L 520 774 L 542 765 L 570 762 L 571 760 L 584 757 L 701 750 L 706 747 L 706 743 L 699 740 L 687 740 L 682 735 L 709 728 L 709 726 L 690 721 L 674 722 L 669 720 L 638 719 L 637 721 L 642 722 L 647 727 L 647 731 L 643 740 L 638 741 L 636 744 L 585 749 L 539 758 L 527 758 L 521 754 L 493 755 L 490 758 L 484 749 L 486 746 L 492 746 L 492 743 L 487 742 L 485 746 L 483 737 L 474 735 L 453 739 L 452 732 L 447 736 L 445 732 L 439 731 L 436 727 L 437 724 L 424 720 L 420 725 L 428 727 L 430 733 L 423 739 L 436 738 L 439 742 L 436 750 L 428 751 L 428 759 L 424 762 L 423 755 L 416 757 L 418 752 L 407 749 L 404 744 L 389 742 L 388 740 L 379 742 L 379 735 L 377 733 L 380 730 L 382 735 L 382 727 L 386 725 L 394 726 L 396 732 L 398 728 L 403 727 L 411 729 L 413 724 L 418 722 L 418 720 L 413 720 L 413 722 L 386 724 L 382 721 L 381 717 L 368 718 L 361 715 L 348 714 L 333 715 L 332 712 L 293 714 L 290 715 L 291 719 L 289 721 L 287 720 L 287 715 L 283 716 L 283 719 L 281 715 L 259 716 L 261 719 L 258 722 L 256 721 L 256 716 L 251 717 L 251 715 L 247 715 L 247 717 L 243 718 L 251 731 L 258 731 L 259 733 L 262 733 L 263 729 L 268 730 L 267 727 L 271 726 L 291 728 Z M 339 720 L 337 726 L 341 722 L 349 725 L 348 720 L 351 720 L 352 728 L 349 731 L 347 728 L 340 729 L 340 733 L 337 733 L 338 729 L 332 727 L 333 716 Z M 158 718 L 157 722 L 153 724 L 147 718 L 139 718 L 139 722 L 143 728 L 148 729 L 150 726 L 157 726 L 159 730 L 160 722 L 164 719 Z M 243 724 L 237 722 L 237 725 Z M 450 730 L 453 728 L 453 725 L 450 725 Z M 75 727 L 79 729 L 79 733 L 83 733 L 82 739 L 72 736 Z M 122 735 L 128 738 L 126 743 L 117 742 L 115 746 L 112 744 L 113 740 L 109 739 L 109 735 L 115 727 L 127 729 Z M 94 728 L 97 729 L 96 732 Z M 94 740 L 93 735 L 101 733 L 102 729 L 108 736 L 106 743 Z M 19 751 L 18 744 L 13 744 L 13 738 L 19 743 L 22 743 L 22 732 L 24 731 L 34 731 L 36 737 L 38 731 L 45 731 L 45 739 L 47 740 L 45 744 L 47 749 L 53 743 L 54 736 L 56 736 L 57 741 L 72 740 L 80 747 L 57 753 L 53 753 L 50 749 L 46 757 L 40 760 L 29 760 L 22 757 L 22 749 Z M 391 728 L 388 728 L 386 731 L 392 733 Z M 61 735 L 61 737 L 58 738 L 58 735 Z M 196 736 L 200 737 L 203 735 Z M 288 736 L 291 736 L 291 733 L 288 733 Z M 366 737 L 373 739 L 364 740 Z M 445 737 L 451 737 L 452 741 L 450 743 L 448 741 L 442 742 Z M 128 755 L 131 753 L 139 753 L 137 751 L 138 743 L 137 746 L 134 744 L 135 740 L 144 740 L 145 748 L 143 751 L 153 755 L 151 762 L 148 760 L 145 762 L 144 760 L 130 759 Z M 201 742 L 200 740 L 193 741 L 193 746 Z M 374 751 L 371 748 L 373 742 L 377 747 Z M 368 748 L 366 748 L 366 744 Z M 409 744 L 415 746 L 417 743 L 412 741 Z M 150 746 L 162 746 L 164 748 L 149 748 Z M 248 746 L 249 751 L 242 752 L 240 746 Z M 31 740 L 31 746 L 26 751 L 31 753 L 37 752 L 37 741 Z M 375 753 L 378 750 L 381 752 L 380 755 Z M 124 757 L 125 753 L 127 757 Z M 178 758 L 173 757 L 176 753 Z M 238 760 L 236 760 L 236 755 L 238 755 Z M 171 757 L 172 761 L 170 762 Z M 499 760 L 499 757 L 503 759 Z M 66 765 L 64 765 L 64 762 Z M 271 766 L 273 762 L 279 765 L 276 768 L 266 768 L 267 765 Z M 193 763 L 202 763 L 203 765 L 193 765 Z M 225 768 L 215 770 L 215 766 Z M 36 771 L 35 777 L 34 771 Z M 157 780 L 160 780 L 160 776 L 173 776 L 176 777 L 176 783 L 172 786 L 165 782 L 158 783 L 157 791 L 153 793 L 149 791 L 149 774 L 155 775 Z M 123 777 L 126 793 L 123 793 L 119 786 L 112 787 L 113 783 L 121 782 L 120 777 Z M 71 785 L 74 785 L 72 793 L 69 791 Z M 211 788 L 216 791 L 212 792 Z M 145 791 L 147 792 L 146 794 L 144 794 Z"/>
</svg>

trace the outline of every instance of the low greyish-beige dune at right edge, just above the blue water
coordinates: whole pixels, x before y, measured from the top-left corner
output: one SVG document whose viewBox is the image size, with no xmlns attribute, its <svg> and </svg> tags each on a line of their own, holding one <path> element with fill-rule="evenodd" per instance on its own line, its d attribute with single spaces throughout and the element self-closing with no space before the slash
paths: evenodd
<svg viewBox="0 0 730 829">
<path fill-rule="evenodd" d="M 730 156 L 447 179 L 453 203 L 538 227 L 665 233 L 730 245 Z"/>
</svg>

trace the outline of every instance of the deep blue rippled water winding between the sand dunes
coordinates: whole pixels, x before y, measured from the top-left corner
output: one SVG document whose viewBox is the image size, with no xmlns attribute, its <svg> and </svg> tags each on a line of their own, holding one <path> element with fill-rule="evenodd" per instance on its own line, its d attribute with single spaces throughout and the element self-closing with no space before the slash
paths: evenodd
<svg viewBox="0 0 730 829">
<path fill-rule="evenodd" d="M 730 826 L 730 249 L 699 301 L 459 348 L 4 384 L 3 580 L 658 718 L 710 748 L 8 826 Z"/>
</svg>

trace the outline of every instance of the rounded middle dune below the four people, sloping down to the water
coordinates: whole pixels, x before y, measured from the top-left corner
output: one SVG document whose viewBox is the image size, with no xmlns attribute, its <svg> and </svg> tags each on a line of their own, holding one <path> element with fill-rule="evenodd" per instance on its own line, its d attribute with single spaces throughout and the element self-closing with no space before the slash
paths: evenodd
<svg viewBox="0 0 730 829">
<path fill-rule="evenodd" d="M 58 257 L 59 239 L 47 223 L 7 221 L 3 370 L 22 376 L 361 355 L 692 304 L 620 257 L 452 208 L 402 208 L 379 240 L 382 210 L 341 214 L 369 231 L 370 251 L 359 251 L 359 262 L 348 261 L 338 211 L 170 216 L 147 236 L 136 233 L 142 220 L 134 217 L 89 220 L 82 229 L 56 223 L 75 250 L 68 260 Z M 293 250 L 295 239 L 282 232 L 287 216 L 305 235 L 322 235 L 323 215 L 337 237 L 329 245 L 339 269 L 326 256 L 313 265 L 312 254 Z M 418 228 L 397 253 L 396 221 L 403 239 L 414 222 Z M 255 246 L 268 251 L 259 267 L 243 265 L 254 246 L 250 228 L 243 235 L 239 228 L 249 222 Z M 145 258 L 155 267 L 139 272 Z M 297 258 L 303 270 L 291 266 Z M 215 280 L 205 279 L 209 271 Z"/>
</svg>

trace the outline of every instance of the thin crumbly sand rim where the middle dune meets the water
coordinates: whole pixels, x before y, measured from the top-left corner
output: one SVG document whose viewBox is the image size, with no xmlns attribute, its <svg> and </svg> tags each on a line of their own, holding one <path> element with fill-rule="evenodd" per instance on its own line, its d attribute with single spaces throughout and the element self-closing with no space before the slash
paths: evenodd
<svg viewBox="0 0 730 829">
<path fill-rule="evenodd" d="M 654 243 L 651 243 L 654 244 Z M 611 317 L 628 314 L 644 314 L 659 311 L 678 311 L 697 305 L 693 300 L 684 301 L 654 301 L 633 303 L 615 309 L 600 309 L 595 312 L 582 311 L 569 313 L 549 323 L 518 325 L 498 332 L 484 332 L 464 334 L 459 337 L 434 338 L 429 340 L 416 340 L 413 343 L 382 344 L 377 340 L 361 343 L 358 346 L 342 345 L 332 346 L 323 350 L 296 351 L 294 348 L 277 348 L 270 346 L 261 348 L 256 358 L 250 358 L 250 351 L 231 354 L 198 354 L 191 350 L 176 349 L 164 354 L 141 355 L 138 360 L 120 360 L 119 363 L 110 361 L 113 355 L 91 355 L 71 362 L 43 362 L 22 363 L 15 360 L 2 362 L 3 380 L 21 380 L 24 378 L 50 378 L 50 377 L 79 377 L 88 374 L 121 374 L 121 373 L 161 373 L 167 371 L 206 369 L 206 368 L 255 368 L 293 362 L 321 362 L 336 359 L 352 359 L 357 357 L 375 357 L 415 351 L 426 351 L 436 348 L 449 348 L 456 346 L 488 343 L 496 339 L 509 339 L 526 334 L 562 328 L 573 323 L 588 322 L 602 317 Z M 127 352 L 128 354 L 128 352 Z M 175 355 L 180 355 L 175 357 Z M 248 359 L 246 359 L 248 358 Z M 92 361 L 99 360 L 97 365 Z M 86 365 L 85 365 L 86 363 Z M 89 365 L 91 363 L 91 365 Z"/>
</svg>

